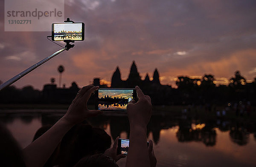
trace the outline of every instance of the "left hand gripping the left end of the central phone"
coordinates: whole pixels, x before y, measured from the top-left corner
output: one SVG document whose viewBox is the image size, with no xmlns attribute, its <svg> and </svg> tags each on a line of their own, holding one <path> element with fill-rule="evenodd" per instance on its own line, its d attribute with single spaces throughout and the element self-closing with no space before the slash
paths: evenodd
<svg viewBox="0 0 256 167">
<path fill-rule="evenodd" d="M 76 95 L 76 98 L 70 104 L 67 109 L 64 119 L 71 124 L 77 124 L 84 121 L 85 118 L 96 116 L 102 113 L 100 110 L 88 110 L 87 102 L 91 94 L 99 89 L 99 86 L 87 85 L 83 86 L 82 89 Z"/>
</svg>

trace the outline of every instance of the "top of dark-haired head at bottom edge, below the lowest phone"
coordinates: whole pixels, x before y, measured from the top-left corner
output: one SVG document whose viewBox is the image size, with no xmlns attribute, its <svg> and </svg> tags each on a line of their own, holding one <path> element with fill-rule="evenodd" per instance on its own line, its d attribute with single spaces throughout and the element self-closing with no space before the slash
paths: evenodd
<svg viewBox="0 0 256 167">
<path fill-rule="evenodd" d="M 119 167 L 108 155 L 95 154 L 82 158 L 74 167 Z"/>
</svg>

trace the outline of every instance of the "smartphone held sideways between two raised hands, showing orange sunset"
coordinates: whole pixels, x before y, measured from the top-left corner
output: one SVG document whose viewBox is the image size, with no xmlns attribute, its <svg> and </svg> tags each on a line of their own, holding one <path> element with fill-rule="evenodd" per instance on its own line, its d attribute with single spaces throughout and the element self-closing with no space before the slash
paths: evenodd
<svg viewBox="0 0 256 167">
<path fill-rule="evenodd" d="M 137 101 L 135 89 L 99 88 L 95 92 L 95 109 L 104 111 L 127 111 L 129 101 Z"/>
</svg>

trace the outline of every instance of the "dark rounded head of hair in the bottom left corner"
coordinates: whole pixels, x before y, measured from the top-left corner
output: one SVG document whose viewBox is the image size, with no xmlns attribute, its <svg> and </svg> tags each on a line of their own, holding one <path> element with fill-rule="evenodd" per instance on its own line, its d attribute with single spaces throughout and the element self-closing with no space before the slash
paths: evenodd
<svg viewBox="0 0 256 167">
<path fill-rule="evenodd" d="M 0 124 L 0 166 L 25 167 L 22 150 L 9 130 Z"/>
</svg>

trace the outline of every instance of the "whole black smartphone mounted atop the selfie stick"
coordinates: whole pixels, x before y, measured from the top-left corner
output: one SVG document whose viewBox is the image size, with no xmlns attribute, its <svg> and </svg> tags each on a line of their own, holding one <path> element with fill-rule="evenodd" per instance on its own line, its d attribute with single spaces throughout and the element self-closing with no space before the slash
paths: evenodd
<svg viewBox="0 0 256 167">
<path fill-rule="evenodd" d="M 52 23 L 52 40 L 84 40 L 84 23 Z"/>
</svg>

